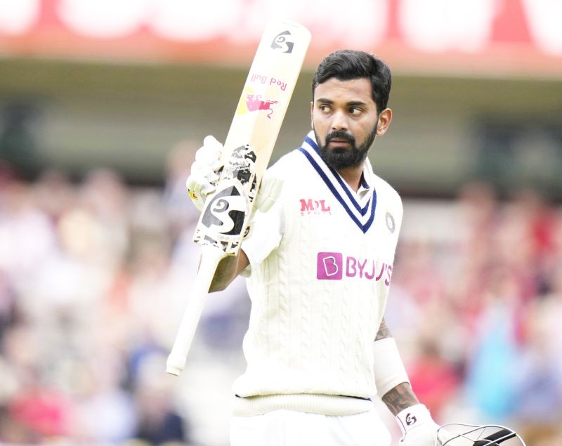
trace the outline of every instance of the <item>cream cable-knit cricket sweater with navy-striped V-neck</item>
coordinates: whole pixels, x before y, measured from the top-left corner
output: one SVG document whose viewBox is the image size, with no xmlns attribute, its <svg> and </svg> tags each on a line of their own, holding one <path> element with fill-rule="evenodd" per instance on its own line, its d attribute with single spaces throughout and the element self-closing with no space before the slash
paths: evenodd
<svg viewBox="0 0 562 446">
<path fill-rule="evenodd" d="M 251 262 L 252 306 L 243 343 L 247 370 L 233 391 L 240 397 L 269 396 L 237 398 L 235 413 L 367 410 L 362 400 L 342 401 L 340 395 L 371 398 L 377 393 L 372 343 L 391 282 L 403 214 L 400 197 L 374 175 L 367 160 L 370 198 L 359 204 L 320 158 L 313 133 L 265 178 L 285 179 L 270 210 L 281 213 L 284 230 L 278 247 L 261 262 L 254 263 L 242 244 Z M 261 219 L 257 214 L 252 227 Z"/>
</svg>

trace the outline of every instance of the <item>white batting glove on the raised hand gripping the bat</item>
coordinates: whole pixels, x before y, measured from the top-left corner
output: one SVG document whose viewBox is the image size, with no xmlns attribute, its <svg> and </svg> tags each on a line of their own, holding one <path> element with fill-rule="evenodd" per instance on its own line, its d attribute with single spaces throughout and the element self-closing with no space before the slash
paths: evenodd
<svg viewBox="0 0 562 446">
<path fill-rule="evenodd" d="M 223 164 L 221 153 L 223 145 L 214 136 L 205 136 L 203 146 L 195 152 L 195 161 L 191 165 L 191 174 L 185 181 L 189 196 L 200 211 L 205 199 L 214 192 Z"/>
</svg>

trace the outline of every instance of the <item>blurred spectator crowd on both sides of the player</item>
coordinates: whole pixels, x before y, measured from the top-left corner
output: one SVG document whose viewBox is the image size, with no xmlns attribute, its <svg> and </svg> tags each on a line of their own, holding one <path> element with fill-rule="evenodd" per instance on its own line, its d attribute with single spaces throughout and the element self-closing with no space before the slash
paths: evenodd
<svg viewBox="0 0 562 446">
<path fill-rule="evenodd" d="M 187 377 L 164 373 L 199 260 L 194 148 L 170 152 L 163 188 L 2 166 L 0 442 L 226 445 L 243 281 L 207 302 Z M 562 214 L 544 197 L 405 200 L 386 320 L 437 421 L 562 444 Z"/>
</svg>

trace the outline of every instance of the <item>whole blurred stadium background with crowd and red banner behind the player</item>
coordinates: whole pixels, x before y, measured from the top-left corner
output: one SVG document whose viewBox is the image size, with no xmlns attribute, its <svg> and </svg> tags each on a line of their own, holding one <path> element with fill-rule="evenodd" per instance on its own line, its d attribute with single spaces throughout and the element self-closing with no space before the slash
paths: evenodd
<svg viewBox="0 0 562 446">
<path fill-rule="evenodd" d="M 556 0 L 0 1 L 0 441 L 227 444 L 243 282 L 179 379 L 163 362 L 198 256 L 183 183 L 272 16 L 313 32 L 273 159 L 324 55 L 393 69 L 370 157 L 405 201 L 387 319 L 414 390 L 440 422 L 561 445 Z"/>
</svg>

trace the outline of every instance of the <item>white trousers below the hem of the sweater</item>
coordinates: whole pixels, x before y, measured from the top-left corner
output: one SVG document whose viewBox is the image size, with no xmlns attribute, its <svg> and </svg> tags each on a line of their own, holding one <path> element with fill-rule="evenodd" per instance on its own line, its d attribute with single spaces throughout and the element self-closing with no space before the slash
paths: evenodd
<svg viewBox="0 0 562 446">
<path fill-rule="evenodd" d="M 390 446 L 391 434 L 376 409 L 344 417 L 274 410 L 233 417 L 231 446 Z"/>
</svg>

